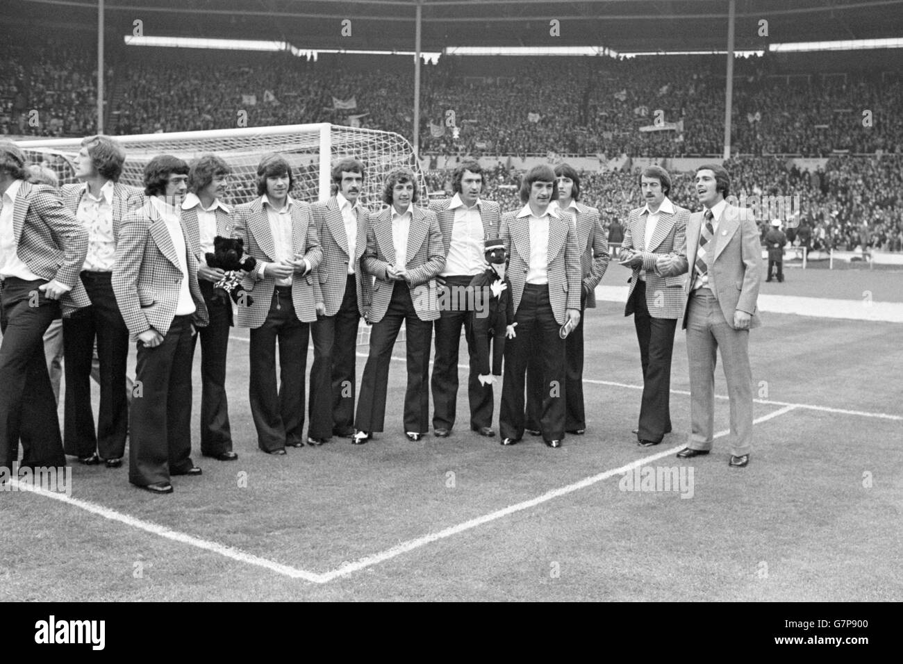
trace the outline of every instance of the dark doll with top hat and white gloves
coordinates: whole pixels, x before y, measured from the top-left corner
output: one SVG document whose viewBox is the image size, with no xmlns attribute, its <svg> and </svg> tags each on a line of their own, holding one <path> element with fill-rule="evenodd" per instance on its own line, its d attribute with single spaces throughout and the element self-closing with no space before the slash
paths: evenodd
<svg viewBox="0 0 903 664">
<path fill-rule="evenodd" d="M 474 310 L 470 313 L 470 343 L 477 349 L 479 382 L 491 385 L 501 377 L 502 358 L 505 354 L 505 335 L 513 330 L 514 301 L 511 283 L 505 276 L 507 254 L 505 243 L 488 239 L 485 243 L 486 261 L 489 267 L 470 281 Z M 510 336 L 513 336 L 511 334 Z M 492 365 L 489 366 L 489 346 L 492 346 Z"/>
</svg>

